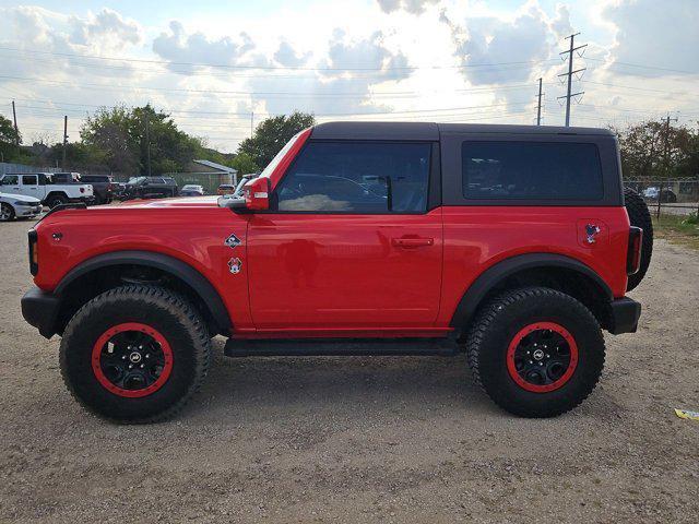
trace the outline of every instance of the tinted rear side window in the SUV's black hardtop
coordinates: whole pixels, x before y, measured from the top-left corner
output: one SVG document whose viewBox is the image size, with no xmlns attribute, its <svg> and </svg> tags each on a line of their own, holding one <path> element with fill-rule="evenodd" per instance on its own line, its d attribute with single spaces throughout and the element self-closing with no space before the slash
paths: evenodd
<svg viewBox="0 0 699 524">
<path fill-rule="evenodd" d="M 597 146 L 464 142 L 463 195 L 474 200 L 602 200 Z"/>
</svg>

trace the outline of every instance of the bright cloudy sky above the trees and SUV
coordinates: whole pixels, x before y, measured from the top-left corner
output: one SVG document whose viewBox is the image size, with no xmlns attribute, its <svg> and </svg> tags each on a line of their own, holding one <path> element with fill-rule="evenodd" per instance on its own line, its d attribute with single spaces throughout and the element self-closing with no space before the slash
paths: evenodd
<svg viewBox="0 0 699 524">
<path fill-rule="evenodd" d="M 167 3 L 167 5 L 163 5 Z M 271 115 L 319 121 L 699 120 L 699 0 L 0 0 L 0 114 L 70 141 L 100 106 L 152 104 L 235 152 Z M 674 121 L 673 121 L 674 122 Z"/>
</svg>

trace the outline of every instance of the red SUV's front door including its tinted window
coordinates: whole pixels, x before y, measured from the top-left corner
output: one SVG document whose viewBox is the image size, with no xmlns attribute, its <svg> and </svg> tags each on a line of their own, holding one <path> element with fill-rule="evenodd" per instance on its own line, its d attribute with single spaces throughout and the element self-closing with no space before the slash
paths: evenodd
<svg viewBox="0 0 699 524">
<path fill-rule="evenodd" d="M 258 330 L 427 330 L 441 284 L 429 142 L 310 141 L 248 226 Z"/>
</svg>

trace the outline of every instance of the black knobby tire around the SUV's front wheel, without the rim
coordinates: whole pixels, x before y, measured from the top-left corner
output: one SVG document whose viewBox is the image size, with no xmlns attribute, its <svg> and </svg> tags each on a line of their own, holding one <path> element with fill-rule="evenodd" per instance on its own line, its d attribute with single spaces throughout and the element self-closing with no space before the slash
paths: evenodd
<svg viewBox="0 0 699 524">
<path fill-rule="evenodd" d="M 93 370 L 93 347 L 112 326 L 153 326 L 171 348 L 171 371 L 153 393 L 137 398 L 108 391 Z M 204 321 L 181 296 L 155 286 L 129 285 L 85 303 L 66 327 L 60 368 L 72 395 L 90 412 L 114 421 L 143 424 L 175 416 L 199 390 L 211 361 L 211 340 Z"/>
</svg>

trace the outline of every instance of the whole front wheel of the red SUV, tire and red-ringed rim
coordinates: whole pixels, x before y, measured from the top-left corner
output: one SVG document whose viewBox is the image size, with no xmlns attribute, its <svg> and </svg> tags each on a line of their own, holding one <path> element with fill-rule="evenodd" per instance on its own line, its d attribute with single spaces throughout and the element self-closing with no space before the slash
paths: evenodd
<svg viewBox="0 0 699 524">
<path fill-rule="evenodd" d="M 211 341 L 182 297 L 161 287 L 110 289 L 83 306 L 60 346 L 61 374 L 91 412 L 123 422 L 177 414 L 206 376 Z"/>
</svg>

